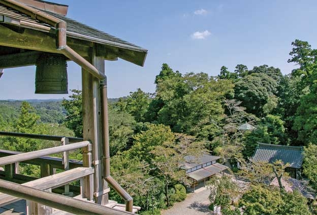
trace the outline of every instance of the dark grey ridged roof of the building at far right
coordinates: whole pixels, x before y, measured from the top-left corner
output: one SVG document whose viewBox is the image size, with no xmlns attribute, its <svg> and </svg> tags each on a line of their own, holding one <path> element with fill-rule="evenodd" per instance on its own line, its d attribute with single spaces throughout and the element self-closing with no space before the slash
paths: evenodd
<svg viewBox="0 0 317 215">
<path fill-rule="evenodd" d="M 303 147 L 259 143 L 252 158 L 256 162 L 268 163 L 282 160 L 284 164 L 289 163 L 292 168 L 301 168 L 303 163 L 302 152 Z"/>
</svg>

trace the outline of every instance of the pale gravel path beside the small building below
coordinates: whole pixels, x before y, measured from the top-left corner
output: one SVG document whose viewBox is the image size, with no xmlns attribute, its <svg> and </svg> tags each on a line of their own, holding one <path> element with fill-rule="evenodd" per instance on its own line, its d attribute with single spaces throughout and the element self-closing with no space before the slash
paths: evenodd
<svg viewBox="0 0 317 215">
<path fill-rule="evenodd" d="M 162 215 L 200 215 L 200 214 L 213 214 L 208 206 L 210 201 L 208 196 L 209 190 L 200 188 L 195 193 L 187 194 L 187 198 L 182 202 L 177 202 L 173 207 L 162 210 Z"/>
</svg>

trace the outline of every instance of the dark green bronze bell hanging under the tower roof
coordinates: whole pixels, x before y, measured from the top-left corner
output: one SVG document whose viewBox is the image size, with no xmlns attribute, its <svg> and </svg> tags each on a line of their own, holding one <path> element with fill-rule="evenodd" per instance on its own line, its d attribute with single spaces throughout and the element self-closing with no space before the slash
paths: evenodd
<svg viewBox="0 0 317 215">
<path fill-rule="evenodd" d="M 43 54 L 37 59 L 35 93 L 68 94 L 66 57 L 60 54 Z"/>
</svg>

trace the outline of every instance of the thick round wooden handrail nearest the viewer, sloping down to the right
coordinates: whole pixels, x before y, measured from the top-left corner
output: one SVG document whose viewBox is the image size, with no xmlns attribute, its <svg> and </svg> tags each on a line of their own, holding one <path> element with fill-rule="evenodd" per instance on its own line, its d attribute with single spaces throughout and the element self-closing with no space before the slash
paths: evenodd
<svg viewBox="0 0 317 215">
<path fill-rule="evenodd" d="M 131 212 L 121 211 L 109 208 L 91 202 L 81 201 L 54 193 L 29 188 L 23 185 L 0 180 L 0 191 L 9 195 L 27 199 L 40 204 L 64 210 L 76 214 L 103 214 L 103 215 L 123 215 L 133 214 Z"/>
</svg>

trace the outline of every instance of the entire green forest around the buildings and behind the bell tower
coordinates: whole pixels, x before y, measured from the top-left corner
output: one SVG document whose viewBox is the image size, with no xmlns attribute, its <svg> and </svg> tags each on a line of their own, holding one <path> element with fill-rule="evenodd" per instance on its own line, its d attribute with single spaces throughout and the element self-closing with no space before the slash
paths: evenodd
<svg viewBox="0 0 317 215">
<path fill-rule="evenodd" d="M 233 164 L 233 177 L 249 183 L 239 189 L 229 176 L 212 178 L 210 209 L 222 214 L 316 214 L 314 203 L 300 192 L 272 188 L 267 180 L 287 178 L 288 164 L 254 163 L 258 142 L 303 146 L 303 177 L 317 189 L 317 49 L 295 40 L 290 46 L 289 74 L 270 65 L 222 66 L 217 76 L 181 73 L 163 63 L 156 90 L 135 92 L 109 102 L 111 174 L 142 207 L 141 214 L 186 198 L 190 185 L 179 162 L 186 155 L 211 153 Z M 243 62 L 242 62 L 243 63 Z M 82 97 L 72 90 L 68 99 L 0 101 L 0 130 L 82 137 Z M 249 124 L 255 129 L 242 131 Z M 1 137 L 2 149 L 29 152 L 56 142 Z M 58 156 L 58 155 L 56 155 Z M 81 160 L 81 152 L 71 154 Z M 236 167 L 239 162 L 241 168 Z M 39 177 L 39 170 L 21 166 Z M 110 199 L 122 202 L 113 190 Z M 236 200 L 238 199 L 238 200 Z"/>
</svg>

